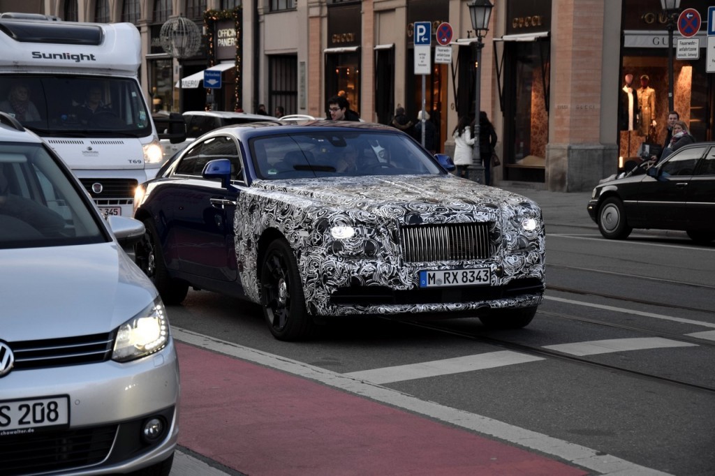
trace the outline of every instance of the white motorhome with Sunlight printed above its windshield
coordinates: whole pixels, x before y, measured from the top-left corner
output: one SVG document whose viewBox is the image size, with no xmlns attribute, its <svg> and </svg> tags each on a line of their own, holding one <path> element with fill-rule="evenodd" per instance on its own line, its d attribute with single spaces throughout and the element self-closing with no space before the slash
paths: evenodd
<svg viewBox="0 0 715 476">
<path fill-rule="evenodd" d="M 163 162 L 137 81 L 139 31 L 50 20 L 0 17 L 0 111 L 55 149 L 105 216 L 130 217 L 134 189 Z"/>
</svg>

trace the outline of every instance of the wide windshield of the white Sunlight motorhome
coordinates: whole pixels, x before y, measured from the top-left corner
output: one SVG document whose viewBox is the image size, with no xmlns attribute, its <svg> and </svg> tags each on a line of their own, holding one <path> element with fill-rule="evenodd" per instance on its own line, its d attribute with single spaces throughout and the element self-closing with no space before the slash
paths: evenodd
<svg viewBox="0 0 715 476">
<path fill-rule="evenodd" d="M 129 78 L 3 74 L 0 111 L 46 137 L 152 134 L 142 91 Z"/>
</svg>

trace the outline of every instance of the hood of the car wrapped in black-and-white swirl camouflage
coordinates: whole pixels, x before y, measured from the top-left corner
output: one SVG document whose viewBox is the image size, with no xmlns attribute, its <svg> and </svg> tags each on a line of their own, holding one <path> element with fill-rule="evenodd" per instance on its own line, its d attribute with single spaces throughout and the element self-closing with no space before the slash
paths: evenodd
<svg viewBox="0 0 715 476">
<path fill-rule="evenodd" d="M 419 214 L 443 214 L 445 221 L 451 212 L 498 214 L 509 205 L 538 210 L 531 199 L 451 175 L 294 179 L 255 185 L 290 197 L 310 199 L 321 207 L 361 209 L 385 217 L 403 215 L 405 207 Z"/>
</svg>

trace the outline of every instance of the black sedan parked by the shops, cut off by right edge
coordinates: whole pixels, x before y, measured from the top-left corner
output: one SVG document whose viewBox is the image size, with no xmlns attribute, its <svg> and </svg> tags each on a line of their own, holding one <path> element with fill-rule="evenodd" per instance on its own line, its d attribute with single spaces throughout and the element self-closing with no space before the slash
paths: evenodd
<svg viewBox="0 0 715 476">
<path fill-rule="evenodd" d="M 687 232 L 695 242 L 715 239 L 715 142 L 683 147 L 649 167 L 593 189 L 588 214 L 603 237 L 625 239 L 633 228 Z"/>
</svg>

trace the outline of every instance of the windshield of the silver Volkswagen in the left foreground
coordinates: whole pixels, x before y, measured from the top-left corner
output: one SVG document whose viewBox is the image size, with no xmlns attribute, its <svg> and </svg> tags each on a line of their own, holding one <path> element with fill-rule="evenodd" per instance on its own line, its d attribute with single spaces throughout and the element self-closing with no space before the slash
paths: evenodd
<svg viewBox="0 0 715 476">
<path fill-rule="evenodd" d="M 0 249 L 107 241 L 92 203 L 41 144 L 0 142 Z"/>
</svg>

